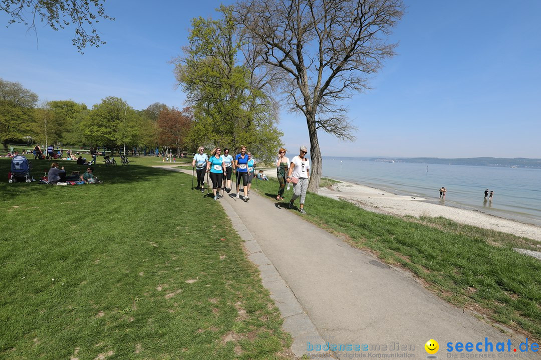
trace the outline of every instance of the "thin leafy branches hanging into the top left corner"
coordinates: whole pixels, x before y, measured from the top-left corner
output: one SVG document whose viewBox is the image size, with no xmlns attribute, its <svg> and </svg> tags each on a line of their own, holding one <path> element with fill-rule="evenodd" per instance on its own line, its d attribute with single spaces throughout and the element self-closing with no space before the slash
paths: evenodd
<svg viewBox="0 0 541 360">
<path fill-rule="evenodd" d="M 8 26 L 23 23 L 34 30 L 36 36 L 36 21 L 45 23 L 55 31 L 74 25 L 75 37 L 72 43 L 83 53 L 82 50 L 87 45 L 99 47 L 105 44 L 95 28 L 99 18 L 115 20 L 105 13 L 104 2 L 105 0 L 1 0 L 0 11 L 8 13 Z"/>
</svg>

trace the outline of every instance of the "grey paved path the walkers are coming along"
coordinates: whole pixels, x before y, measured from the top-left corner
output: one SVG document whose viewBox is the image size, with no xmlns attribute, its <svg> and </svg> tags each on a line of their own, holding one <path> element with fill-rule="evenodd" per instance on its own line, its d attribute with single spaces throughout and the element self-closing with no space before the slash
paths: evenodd
<svg viewBox="0 0 541 360">
<path fill-rule="evenodd" d="M 219 201 L 247 241 L 250 260 L 260 267 L 263 285 L 282 311 L 284 329 L 294 338 L 292 350 L 296 356 L 314 354 L 307 351 L 310 345 L 328 342 L 368 347 L 367 351 L 331 351 L 334 358 L 377 354 L 425 358 L 428 354 L 424 344 L 435 339 L 440 346 L 436 354 L 439 358 L 479 357 L 492 354 L 449 354 L 446 344 L 482 342 L 484 351 L 485 337 L 494 347 L 497 342 L 511 339 L 512 351 L 525 341 L 522 336 L 494 328 L 449 305 L 411 275 L 388 267 L 371 254 L 304 221 L 299 212 L 285 208 L 287 202 L 277 205 L 255 191 L 247 203 L 235 201 L 227 193 Z M 309 216 L 309 203 L 306 210 Z M 530 358 L 539 358 L 538 354 L 529 352 Z M 493 355 L 507 357 L 516 353 Z"/>
</svg>

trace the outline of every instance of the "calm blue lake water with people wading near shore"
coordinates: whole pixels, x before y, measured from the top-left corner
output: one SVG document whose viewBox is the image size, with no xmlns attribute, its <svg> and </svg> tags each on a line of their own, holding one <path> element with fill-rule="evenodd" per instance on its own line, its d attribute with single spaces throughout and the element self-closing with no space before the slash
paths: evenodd
<svg viewBox="0 0 541 360">
<path fill-rule="evenodd" d="M 427 171 L 428 170 L 428 171 Z M 541 169 L 323 157 L 323 176 L 541 226 Z M 447 189 L 445 201 L 439 188 Z M 484 191 L 494 191 L 484 201 Z"/>
</svg>

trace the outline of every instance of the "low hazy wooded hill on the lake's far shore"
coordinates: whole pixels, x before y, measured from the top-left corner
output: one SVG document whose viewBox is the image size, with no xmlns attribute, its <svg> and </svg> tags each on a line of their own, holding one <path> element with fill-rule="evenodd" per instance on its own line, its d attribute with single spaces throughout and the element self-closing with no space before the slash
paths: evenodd
<svg viewBox="0 0 541 360">
<path fill-rule="evenodd" d="M 440 158 L 401 158 L 401 159 L 382 159 L 375 158 L 373 161 L 395 161 L 395 162 L 415 162 L 418 164 L 451 164 L 451 165 L 474 165 L 474 166 L 498 166 L 498 167 L 522 167 L 541 169 L 541 159 L 527 158 L 458 158 L 458 159 L 440 159 Z"/>
</svg>

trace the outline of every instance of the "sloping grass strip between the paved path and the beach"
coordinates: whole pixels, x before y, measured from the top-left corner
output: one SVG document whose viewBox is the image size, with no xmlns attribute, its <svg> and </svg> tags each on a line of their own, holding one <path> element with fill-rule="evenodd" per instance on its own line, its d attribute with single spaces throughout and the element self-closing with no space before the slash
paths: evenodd
<svg viewBox="0 0 541 360">
<path fill-rule="evenodd" d="M 252 188 L 275 199 L 278 181 L 269 179 Z M 284 194 L 284 206 L 292 194 Z M 538 242 L 443 218 L 381 215 L 311 193 L 305 209 L 304 219 L 410 270 L 448 302 L 541 339 L 541 262 L 513 251 L 539 250 Z"/>
</svg>

